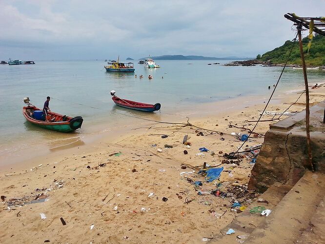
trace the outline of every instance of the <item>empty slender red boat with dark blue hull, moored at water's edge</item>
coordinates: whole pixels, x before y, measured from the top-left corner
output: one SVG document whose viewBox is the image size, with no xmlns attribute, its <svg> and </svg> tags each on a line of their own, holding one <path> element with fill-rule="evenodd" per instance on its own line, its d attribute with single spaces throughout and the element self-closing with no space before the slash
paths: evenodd
<svg viewBox="0 0 325 244">
<path fill-rule="evenodd" d="M 115 91 L 111 91 L 111 95 L 112 95 L 113 102 L 115 102 L 116 105 L 119 105 L 121 107 L 135 109 L 144 112 L 154 112 L 160 110 L 161 108 L 160 103 L 148 104 L 148 103 L 134 102 L 126 99 L 121 99 L 115 96 Z"/>
</svg>

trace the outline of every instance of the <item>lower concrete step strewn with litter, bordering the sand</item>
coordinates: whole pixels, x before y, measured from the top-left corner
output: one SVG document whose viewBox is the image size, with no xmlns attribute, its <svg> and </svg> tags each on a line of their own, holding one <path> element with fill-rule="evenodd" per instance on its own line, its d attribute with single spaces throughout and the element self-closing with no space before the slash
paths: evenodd
<svg viewBox="0 0 325 244">
<path fill-rule="evenodd" d="M 217 236 L 209 241 L 209 243 L 238 244 L 236 236 L 249 236 L 264 221 L 264 218 L 261 218 L 260 214 L 251 214 L 249 210 L 256 206 L 264 206 L 266 209 L 272 209 L 282 200 L 291 188 L 292 186 L 289 185 L 273 185 L 269 187 L 259 197 L 259 199 L 263 198 L 268 201 L 268 203 L 258 203 L 258 200 L 256 200 L 254 203 L 250 204 L 243 213 L 240 213 L 234 221 L 224 227 Z M 226 235 L 229 228 L 234 229 L 236 232 L 232 235 Z M 244 239 L 240 241 L 244 241 Z"/>
</svg>

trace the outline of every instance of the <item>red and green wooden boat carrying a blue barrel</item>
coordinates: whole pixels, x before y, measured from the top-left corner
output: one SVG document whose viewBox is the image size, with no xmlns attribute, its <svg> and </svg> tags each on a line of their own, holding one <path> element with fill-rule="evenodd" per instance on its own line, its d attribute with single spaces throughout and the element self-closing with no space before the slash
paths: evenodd
<svg viewBox="0 0 325 244">
<path fill-rule="evenodd" d="M 44 129 L 60 132 L 71 132 L 79 129 L 83 122 L 81 116 L 69 117 L 54 112 L 48 112 L 51 117 L 50 122 L 45 121 L 44 112 L 34 105 L 24 106 L 22 114 L 28 122 L 40 126 Z"/>
</svg>

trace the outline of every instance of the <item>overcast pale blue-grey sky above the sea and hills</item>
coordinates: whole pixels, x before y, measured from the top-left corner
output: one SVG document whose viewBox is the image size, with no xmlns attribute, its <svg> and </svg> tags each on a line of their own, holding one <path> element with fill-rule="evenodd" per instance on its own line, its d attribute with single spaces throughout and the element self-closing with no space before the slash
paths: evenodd
<svg viewBox="0 0 325 244">
<path fill-rule="evenodd" d="M 0 60 L 250 58 L 295 37 L 288 12 L 325 0 L 0 0 Z"/>
</svg>

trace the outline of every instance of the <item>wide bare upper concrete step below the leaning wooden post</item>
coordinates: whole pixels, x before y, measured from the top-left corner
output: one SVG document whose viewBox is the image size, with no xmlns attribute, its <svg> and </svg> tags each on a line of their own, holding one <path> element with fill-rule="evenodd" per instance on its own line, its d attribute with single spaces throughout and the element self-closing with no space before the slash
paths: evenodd
<svg viewBox="0 0 325 244">
<path fill-rule="evenodd" d="M 325 174 L 306 172 L 268 217 L 261 216 L 263 222 L 251 232 L 245 243 L 297 243 L 302 238 L 302 232 L 310 228 L 309 223 L 324 196 Z"/>
</svg>

